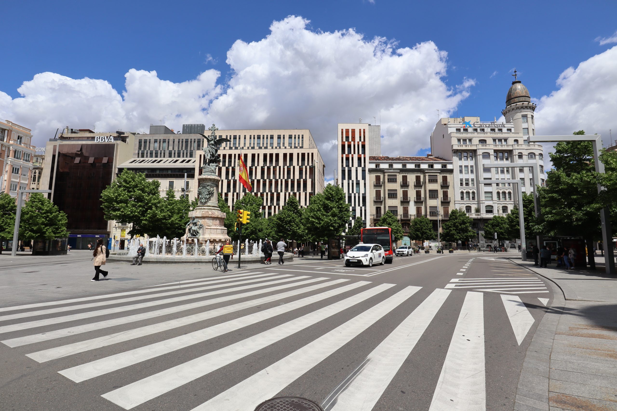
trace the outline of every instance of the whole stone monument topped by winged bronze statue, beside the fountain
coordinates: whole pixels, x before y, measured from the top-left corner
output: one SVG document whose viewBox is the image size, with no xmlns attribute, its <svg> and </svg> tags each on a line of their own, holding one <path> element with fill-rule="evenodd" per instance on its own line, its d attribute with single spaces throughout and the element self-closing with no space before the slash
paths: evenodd
<svg viewBox="0 0 617 411">
<path fill-rule="evenodd" d="M 197 185 L 199 205 L 195 210 L 189 212 L 191 220 L 186 224 L 184 238 L 188 242 L 205 243 L 210 240 L 210 244 L 220 245 L 224 244 L 226 240 L 230 240 L 230 237 L 225 228 L 225 213 L 218 208 L 218 186 L 221 181 L 221 177 L 217 175 L 218 162 L 220 161 L 218 148 L 223 142 L 230 140 L 219 139 L 216 133 L 218 128 L 214 124 L 209 130 L 209 136 L 202 134 L 205 142 L 202 174 L 197 177 L 197 181 L 199 181 L 199 185 Z"/>
</svg>

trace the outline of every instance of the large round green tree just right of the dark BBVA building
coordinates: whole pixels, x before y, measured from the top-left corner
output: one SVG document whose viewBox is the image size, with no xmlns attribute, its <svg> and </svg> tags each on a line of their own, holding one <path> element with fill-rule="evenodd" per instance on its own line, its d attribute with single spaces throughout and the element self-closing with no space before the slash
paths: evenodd
<svg viewBox="0 0 617 411">
<path fill-rule="evenodd" d="M 101 193 L 105 218 L 131 223 L 130 236 L 147 234 L 146 228 L 152 230 L 148 213 L 160 203 L 159 185 L 158 180 L 147 181 L 143 173 L 124 169 Z"/>
</svg>

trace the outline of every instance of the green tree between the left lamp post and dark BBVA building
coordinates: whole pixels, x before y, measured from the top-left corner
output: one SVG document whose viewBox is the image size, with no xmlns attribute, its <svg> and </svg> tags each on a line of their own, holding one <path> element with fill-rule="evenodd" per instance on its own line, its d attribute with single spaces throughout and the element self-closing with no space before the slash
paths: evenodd
<svg viewBox="0 0 617 411">
<path fill-rule="evenodd" d="M 51 240 L 68 237 L 67 214 L 44 197 L 42 193 L 31 193 L 22 207 L 19 223 L 20 240 Z"/>
</svg>

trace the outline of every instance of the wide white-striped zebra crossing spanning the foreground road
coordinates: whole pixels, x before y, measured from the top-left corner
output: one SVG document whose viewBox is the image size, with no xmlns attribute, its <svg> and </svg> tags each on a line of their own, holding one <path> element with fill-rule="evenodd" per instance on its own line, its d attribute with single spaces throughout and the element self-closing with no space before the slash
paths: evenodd
<svg viewBox="0 0 617 411">
<path fill-rule="evenodd" d="M 260 350 L 276 347 L 326 320 L 341 318 L 337 325 L 302 341 L 299 348 L 284 352 L 267 367 L 251 370 L 234 385 L 209 393 L 197 406 L 183 407 L 178 399 L 177 409 L 252 411 L 335 352 L 345 350 L 350 341 L 370 337 L 377 341 L 370 354 L 346 378 L 329 381 L 331 394 L 316 399 L 327 411 L 368 411 L 378 404 L 405 360 L 414 355 L 413 349 L 427 330 L 438 326 L 434 319 L 444 305 L 458 304 L 458 299 L 451 299 L 452 289 L 465 288 L 445 360 L 435 365 L 441 367 L 441 373 L 430 410 L 486 410 L 487 297 L 481 291 L 500 292 L 502 310 L 510 320 L 511 328 L 506 331 L 518 344 L 534 324 L 534 317 L 521 298 L 512 295 L 513 288 L 508 287 L 523 286 L 509 283 L 511 279 L 499 279 L 498 288 L 505 291 L 495 288 L 495 279 L 489 279 L 487 286 L 494 287 L 492 290 L 486 290 L 483 282 L 477 283 L 480 279 L 455 280 L 444 288 L 424 292 L 413 285 L 278 272 L 205 277 L 93 297 L 3 307 L 0 342 L 20 349 L 36 363 L 51 367 L 62 364 L 57 373 L 71 381 L 75 390 L 86 381 L 114 380 L 118 373 L 129 375 L 130 383 L 114 387 L 101 397 L 130 410 L 173 396 L 175 390 L 196 380 L 207 381 L 238 360 L 259 356 Z M 523 285 L 536 288 L 535 283 Z M 413 303 L 415 299 L 421 301 Z M 402 320 L 383 335 L 375 328 L 383 320 L 399 317 Z M 268 322 L 278 318 L 284 320 L 274 325 Z M 241 333 L 262 324 L 268 325 L 253 335 Z M 197 329 L 184 332 L 183 327 L 189 325 Z M 149 339 L 144 338 L 147 336 Z M 183 357 L 178 364 L 154 373 L 132 371 L 147 361 L 185 352 L 220 336 L 233 342 L 188 359 Z M 101 348 L 114 354 L 94 355 L 94 350 Z"/>
</svg>

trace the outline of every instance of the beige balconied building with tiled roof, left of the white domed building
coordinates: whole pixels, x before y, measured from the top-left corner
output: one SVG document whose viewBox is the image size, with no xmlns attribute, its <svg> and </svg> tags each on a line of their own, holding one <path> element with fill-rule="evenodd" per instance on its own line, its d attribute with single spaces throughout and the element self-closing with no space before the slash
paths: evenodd
<svg viewBox="0 0 617 411">
<path fill-rule="evenodd" d="M 454 206 L 452 161 L 433 157 L 371 156 L 368 161 L 370 224 L 387 211 L 397 216 L 405 235 L 412 219 L 426 216 L 441 232 L 441 221 Z M 409 245 L 406 237 L 403 243 Z M 400 244 L 399 244 L 400 245 Z"/>
</svg>

